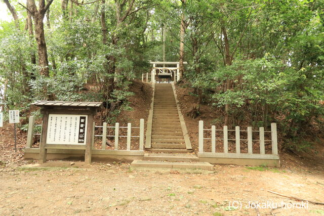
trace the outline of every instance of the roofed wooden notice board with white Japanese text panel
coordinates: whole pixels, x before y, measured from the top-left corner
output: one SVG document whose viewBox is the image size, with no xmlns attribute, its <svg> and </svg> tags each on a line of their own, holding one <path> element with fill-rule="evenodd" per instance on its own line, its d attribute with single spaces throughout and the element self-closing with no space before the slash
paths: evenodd
<svg viewBox="0 0 324 216">
<path fill-rule="evenodd" d="M 46 162 L 48 149 L 83 149 L 91 163 L 93 122 L 99 102 L 37 101 L 43 117 L 39 159 Z M 85 124 L 84 124 L 85 123 Z"/>
</svg>

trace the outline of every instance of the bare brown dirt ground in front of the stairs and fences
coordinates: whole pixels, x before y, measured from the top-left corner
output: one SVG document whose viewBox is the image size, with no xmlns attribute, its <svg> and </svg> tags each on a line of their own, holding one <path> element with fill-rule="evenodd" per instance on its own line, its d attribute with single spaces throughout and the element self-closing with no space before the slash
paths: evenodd
<svg viewBox="0 0 324 216">
<path fill-rule="evenodd" d="M 215 171 L 132 170 L 127 163 L 34 163 L 0 168 L 1 215 L 324 214 L 324 205 L 297 208 L 300 202 L 267 192 L 324 202 L 323 171 L 234 165 L 216 165 Z M 249 202 L 267 201 L 272 206 L 249 207 Z"/>
</svg>

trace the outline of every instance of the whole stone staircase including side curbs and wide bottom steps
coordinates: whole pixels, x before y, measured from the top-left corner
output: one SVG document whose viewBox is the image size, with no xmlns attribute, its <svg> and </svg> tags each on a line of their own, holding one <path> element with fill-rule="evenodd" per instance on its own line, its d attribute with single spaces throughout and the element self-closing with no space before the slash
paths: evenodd
<svg viewBox="0 0 324 216">
<path fill-rule="evenodd" d="M 212 164 L 199 162 L 199 158 L 190 153 L 190 140 L 183 117 L 178 111 L 172 84 L 155 83 L 151 118 L 152 131 L 146 134 L 148 145 L 145 148 L 149 153 L 144 154 L 143 160 L 134 160 L 132 168 L 214 170 Z"/>
</svg>

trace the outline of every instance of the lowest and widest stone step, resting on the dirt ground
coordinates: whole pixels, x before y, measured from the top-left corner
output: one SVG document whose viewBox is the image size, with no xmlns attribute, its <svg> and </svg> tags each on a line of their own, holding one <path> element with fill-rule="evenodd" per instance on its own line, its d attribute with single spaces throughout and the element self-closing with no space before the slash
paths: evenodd
<svg viewBox="0 0 324 216">
<path fill-rule="evenodd" d="M 134 160 L 131 168 L 167 168 L 167 169 L 205 169 L 214 170 L 214 166 L 208 162 L 168 162 Z"/>
</svg>

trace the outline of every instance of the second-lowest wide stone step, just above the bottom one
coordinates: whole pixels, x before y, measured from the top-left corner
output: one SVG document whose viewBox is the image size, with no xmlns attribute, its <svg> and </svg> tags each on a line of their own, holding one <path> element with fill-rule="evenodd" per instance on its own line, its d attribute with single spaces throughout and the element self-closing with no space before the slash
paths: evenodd
<svg viewBox="0 0 324 216">
<path fill-rule="evenodd" d="M 167 154 L 167 153 L 145 153 L 144 160 L 173 161 L 173 162 L 198 162 L 199 158 L 193 154 Z"/>
</svg>

